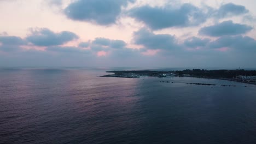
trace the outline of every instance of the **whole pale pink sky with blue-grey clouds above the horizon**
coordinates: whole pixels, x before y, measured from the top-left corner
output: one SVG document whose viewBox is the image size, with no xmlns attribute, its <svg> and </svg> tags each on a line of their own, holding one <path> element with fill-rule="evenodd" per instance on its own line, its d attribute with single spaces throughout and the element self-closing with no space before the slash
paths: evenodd
<svg viewBox="0 0 256 144">
<path fill-rule="evenodd" d="M 255 0 L 0 0 L 0 67 L 256 69 Z"/>
</svg>

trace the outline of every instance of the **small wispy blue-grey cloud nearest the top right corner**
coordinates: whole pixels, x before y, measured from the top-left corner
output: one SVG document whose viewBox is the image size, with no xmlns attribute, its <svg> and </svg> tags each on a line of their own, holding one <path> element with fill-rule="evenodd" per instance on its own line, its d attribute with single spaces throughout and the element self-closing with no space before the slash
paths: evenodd
<svg viewBox="0 0 256 144">
<path fill-rule="evenodd" d="M 246 9 L 243 5 L 236 5 L 233 3 L 227 3 L 217 10 L 216 17 L 224 18 L 229 16 L 237 16 L 248 13 L 249 10 Z"/>
</svg>

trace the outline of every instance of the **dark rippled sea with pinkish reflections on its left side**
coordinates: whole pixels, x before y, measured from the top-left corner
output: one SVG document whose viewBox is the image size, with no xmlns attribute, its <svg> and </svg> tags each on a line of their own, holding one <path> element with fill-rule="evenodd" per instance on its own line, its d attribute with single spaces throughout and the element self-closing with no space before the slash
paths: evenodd
<svg viewBox="0 0 256 144">
<path fill-rule="evenodd" d="M 256 143 L 255 85 L 107 70 L 0 69 L 0 143 Z"/>
</svg>

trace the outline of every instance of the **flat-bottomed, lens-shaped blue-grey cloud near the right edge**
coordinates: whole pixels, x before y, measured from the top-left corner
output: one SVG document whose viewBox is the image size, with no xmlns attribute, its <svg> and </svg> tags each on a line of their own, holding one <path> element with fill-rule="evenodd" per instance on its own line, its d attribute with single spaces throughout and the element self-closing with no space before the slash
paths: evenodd
<svg viewBox="0 0 256 144">
<path fill-rule="evenodd" d="M 251 31 L 253 28 L 232 21 L 224 21 L 213 26 L 203 27 L 200 29 L 199 34 L 208 35 L 211 37 L 220 37 L 222 35 L 237 35 L 244 34 Z"/>
</svg>

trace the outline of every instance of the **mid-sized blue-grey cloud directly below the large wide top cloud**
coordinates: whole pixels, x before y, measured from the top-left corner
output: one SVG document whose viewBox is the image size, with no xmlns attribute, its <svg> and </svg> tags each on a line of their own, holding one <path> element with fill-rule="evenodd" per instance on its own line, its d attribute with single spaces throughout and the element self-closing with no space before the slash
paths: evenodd
<svg viewBox="0 0 256 144">
<path fill-rule="evenodd" d="M 174 36 L 170 34 L 154 34 L 144 28 L 133 33 L 133 39 L 135 44 L 143 45 L 147 49 L 172 50 L 179 47 Z"/>
</svg>

